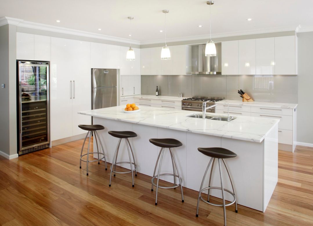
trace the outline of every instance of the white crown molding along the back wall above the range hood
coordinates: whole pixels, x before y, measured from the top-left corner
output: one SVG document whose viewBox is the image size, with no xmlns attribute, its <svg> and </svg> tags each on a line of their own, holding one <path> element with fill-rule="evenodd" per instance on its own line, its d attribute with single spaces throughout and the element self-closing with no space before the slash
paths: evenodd
<svg viewBox="0 0 313 226">
<path fill-rule="evenodd" d="M 267 29 L 254 29 L 254 30 L 246 30 L 246 31 L 224 32 L 224 33 L 212 34 L 212 39 L 222 38 L 222 37 L 231 37 L 231 36 L 244 36 L 244 35 L 274 33 L 274 32 L 282 32 L 282 31 L 295 31 L 295 29 L 296 29 L 296 26 L 285 26 L 285 27 L 276 27 L 276 28 L 267 28 Z M 210 35 L 205 34 L 205 35 L 197 35 L 197 36 L 185 36 L 185 37 L 180 37 L 180 38 L 167 38 L 167 43 L 168 42 L 177 42 L 177 41 L 202 40 L 202 39 L 210 39 Z M 141 45 L 157 44 L 157 43 L 162 43 L 162 42 L 164 42 L 164 39 L 141 41 Z"/>
</svg>

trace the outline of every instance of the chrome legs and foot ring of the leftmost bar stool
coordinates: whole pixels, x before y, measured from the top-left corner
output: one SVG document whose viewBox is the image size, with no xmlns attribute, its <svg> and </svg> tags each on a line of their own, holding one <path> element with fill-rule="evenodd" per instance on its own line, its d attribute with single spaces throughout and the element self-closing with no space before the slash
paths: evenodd
<svg viewBox="0 0 313 226">
<path fill-rule="evenodd" d="M 94 137 L 95 137 L 95 141 L 96 141 L 96 145 L 97 145 L 97 151 L 96 152 L 89 152 L 89 148 L 90 148 L 90 140 L 91 140 L 91 133 L 94 132 Z M 84 146 L 85 146 L 85 142 L 86 142 L 86 139 L 89 135 L 89 140 L 88 140 L 88 151 L 86 154 L 83 155 L 83 150 L 84 150 Z M 97 140 L 97 137 L 99 139 L 99 142 L 100 142 L 100 145 L 101 145 L 101 148 L 102 148 L 102 153 L 99 152 L 99 147 L 98 147 L 98 140 Z M 89 155 L 90 154 L 98 154 L 98 159 L 96 160 L 89 160 Z M 100 158 L 100 155 L 103 155 L 103 157 Z M 84 160 L 83 159 L 83 156 L 87 156 L 87 160 Z M 107 170 L 107 167 L 106 167 L 106 159 L 105 159 L 105 153 L 104 153 L 104 149 L 103 149 L 103 145 L 102 145 L 102 142 L 100 140 L 100 137 L 98 135 L 98 132 L 96 130 L 94 131 L 88 131 L 87 134 L 86 134 L 86 137 L 85 137 L 85 140 L 84 140 L 84 143 L 83 143 L 83 147 L 81 148 L 81 151 L 80 151 L 80 166 L 79 168 L 81 169 L 81 161 L 84 161 L 84 162 L 87 162 L 87 176 L 88 176 L 88 163 L 89 162 L 98 162 L 98 164 L 100 164 L 100 160 L 104 159 L 105 161 L 105 170 Z"/>
</svg>

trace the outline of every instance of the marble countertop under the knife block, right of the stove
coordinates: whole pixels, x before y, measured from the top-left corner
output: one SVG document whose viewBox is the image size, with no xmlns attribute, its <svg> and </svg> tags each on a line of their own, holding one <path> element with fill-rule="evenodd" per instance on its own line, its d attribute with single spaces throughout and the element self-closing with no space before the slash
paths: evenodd
<svg viewBox="0 0 313 226">
<path fill-rule="evenodd" d="M 243 102 L 241 100 L 221 100 L 216 102 L 217 104 L 233 104 L 233 105 L 244 105 L 244 106 L 256 106 L 256 107 L 268 107 L 268 108 L 291 108 L 295 109 L 298 104 L 296 103 L 272 103 L 272 102 Z"/>
</svg>

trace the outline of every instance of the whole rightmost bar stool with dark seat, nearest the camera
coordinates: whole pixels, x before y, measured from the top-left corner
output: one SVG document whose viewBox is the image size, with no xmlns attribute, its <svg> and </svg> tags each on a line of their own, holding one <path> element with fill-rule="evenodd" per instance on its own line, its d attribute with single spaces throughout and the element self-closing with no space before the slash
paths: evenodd
<svg viewBox="0 0 313 226">
<path fill-rule="evenodd" d="M 199 148 L 198 148 L 198 151 L 200 151 L 202 154 L 204 154 L 204 155 L 206 155 L 206 156 L 210 156 L 210 157 L 211 157 L 211 160 L 209 161 L 208 167 L 207 167 L 207 169 L 206 169 L 206 171 L 205 171 L 205 173 L 204 173 L 204 176 L 203 176 L 203 179 L 202 179 L 202 182 L 201 182 L 200 191 L 199 191 L 199 196 L 198 196 L 196 217 L 198 217 L 199 201 L 200 201 L 200 199 L 201 199 L 203 202 L 208 203 L 208 204 L 213 205 L 213 206 L 223 206 L 223 209 L 224 209 L 224 225 L 226 226 L 226 209 L 225 209 L 225 207 L 226 207 L 226 206 L 230 206 L 230 205 L 232 205 L 232 204 L 235 203 L 235 212 L 236 212 L 236 213 L 238 213 L 238 209 L 237 209 L 237 200 L 236 200 L 236 193 L 235 193 L 234 186 L 233 186 L 233 181 L 232 181 L 232 178 L 231 178 L 231 176 L 230 176 L 230 174 L 229 174 L 229 171 L 228 171 L 228 168 L 227 168 L 227 166 L 226 166 L 226 163 L 225 163 L 225 160 L 224 160 L 224 159 L 225 159 L 225 158 L 234 158 L 234 157 L 236 157 L 237 155 L 236 155 L 234 152 L 232 152 L 232 151 L 230 151 L 230 150 L 228 150 L 228 149 L 222 148 L 222 147 L 208 147 L 208 148 L 199 147 Z M 220 187 L 211 187 L 212 171 L 213 171 L 214 161 L 215 161 L 216 158 L 218 159 L 219 175 L 220 175 L 220 177 L 221 177 L 221 188 L 220 188 Z M 231 183 L 232 188 L 233 188 L 233 193 L 223 187 L 223 177 L 222 177 L 221 160 L 223 161 L 224 166 L 225 166 L 225 168 L 226 168 L 226 170 L 227 170 L 228 177 L 229 177 L 230 183 Z M 205 176 L 206 176 L 207 173 L 208 173 L 208 169 L 209 169 L 209 166 L 211 165 L 211 163 L 212 163 L 212 167 L 211 167 L 211 173 L 210 173 L 210 179 L 209 179 L 209 186 L 208 186 L 207 188 L 203 188 L 203 189 L 202 189 Z M 209 202 L 210 189 L 220 189 L 220 190 L 222 190 L 223 204 L 214 204 L 214 203 Z M 201 196 L 201 193 L 202 193 L 204 190 L 208 190 L 208 199 L 207 199 L 207 201 L 204 200 L 204 199 L 202 198 L 202 196 Z M 233 200 L 231 203 L 225 204 L 224 191 L 227 191 L 228 193 L 230 193 L 231 195 L 233 195 L 234 200 Z"/>
</svg>

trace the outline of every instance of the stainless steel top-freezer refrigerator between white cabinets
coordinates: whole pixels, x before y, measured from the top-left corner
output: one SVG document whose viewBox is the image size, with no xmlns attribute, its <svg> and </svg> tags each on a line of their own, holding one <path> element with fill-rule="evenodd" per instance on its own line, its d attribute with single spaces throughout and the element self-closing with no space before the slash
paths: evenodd
<svg viewBox="0 0 313 226">
<path fill-rule="evenodd" d="M 91 69 L 92 109 L 117 106 L 117 78 L 120 69 Z"/>
</svg>

